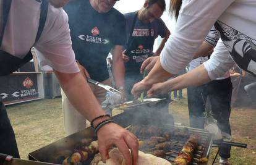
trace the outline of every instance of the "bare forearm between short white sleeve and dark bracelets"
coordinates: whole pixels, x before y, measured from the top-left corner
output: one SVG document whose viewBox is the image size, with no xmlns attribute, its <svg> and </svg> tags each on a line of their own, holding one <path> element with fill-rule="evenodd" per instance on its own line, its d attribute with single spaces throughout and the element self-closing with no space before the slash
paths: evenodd
<svg viewBox="0 0 256 165">
<path fill-rule="evenodd" d="M 82 74 L 54 72 L 70 103 L 88 121 L 92 121 L 95 117 L 105 114 Z"/>
</svg>

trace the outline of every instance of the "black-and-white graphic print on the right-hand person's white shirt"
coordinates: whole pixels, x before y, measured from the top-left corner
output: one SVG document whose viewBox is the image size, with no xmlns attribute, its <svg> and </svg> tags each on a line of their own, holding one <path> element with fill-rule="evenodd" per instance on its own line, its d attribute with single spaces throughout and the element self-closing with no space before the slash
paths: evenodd
<svg viewBox="0 0 256 165">
<path fill-rule="evenodd" d="M 215 28 L 231 57 L 241 69 L 256 75 L 256 40 L 218 20 Z"/>
</svg>

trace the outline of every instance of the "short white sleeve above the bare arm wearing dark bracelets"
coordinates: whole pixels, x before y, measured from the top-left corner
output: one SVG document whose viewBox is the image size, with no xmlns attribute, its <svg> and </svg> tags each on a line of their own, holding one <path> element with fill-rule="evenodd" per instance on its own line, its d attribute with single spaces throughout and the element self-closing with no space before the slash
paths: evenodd
<svg viewBox="0 0 256 165">
<path fill-rule="evenodd" d="M 58 15 L 54 16 L 56 16 L 55 12 L 48 12 L 45 32 L 35 44 L 35 48 L 39 51 L 39 65 L 42 69 L 51 67 L 64 73 L 79 72 L 72 49 L 67 14 L 59 9 Z"/>
</svg>

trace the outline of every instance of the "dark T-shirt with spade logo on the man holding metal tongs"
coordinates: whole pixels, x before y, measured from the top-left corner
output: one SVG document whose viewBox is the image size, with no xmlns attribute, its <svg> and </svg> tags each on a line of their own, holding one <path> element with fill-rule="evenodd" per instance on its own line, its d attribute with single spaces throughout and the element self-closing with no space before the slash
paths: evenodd
<svg viewBox="0 0 256 165">
<path fill-rule="evenodd" d="M 98 13 L 89 0 L 75 0 L 64 7 L 69 15 L 72 48 L 90 77 L 99 82 L 109 77 L 106 57 L 114 45 L 126 42 L 126 20 L 116 9 Z"/>
</svg>

